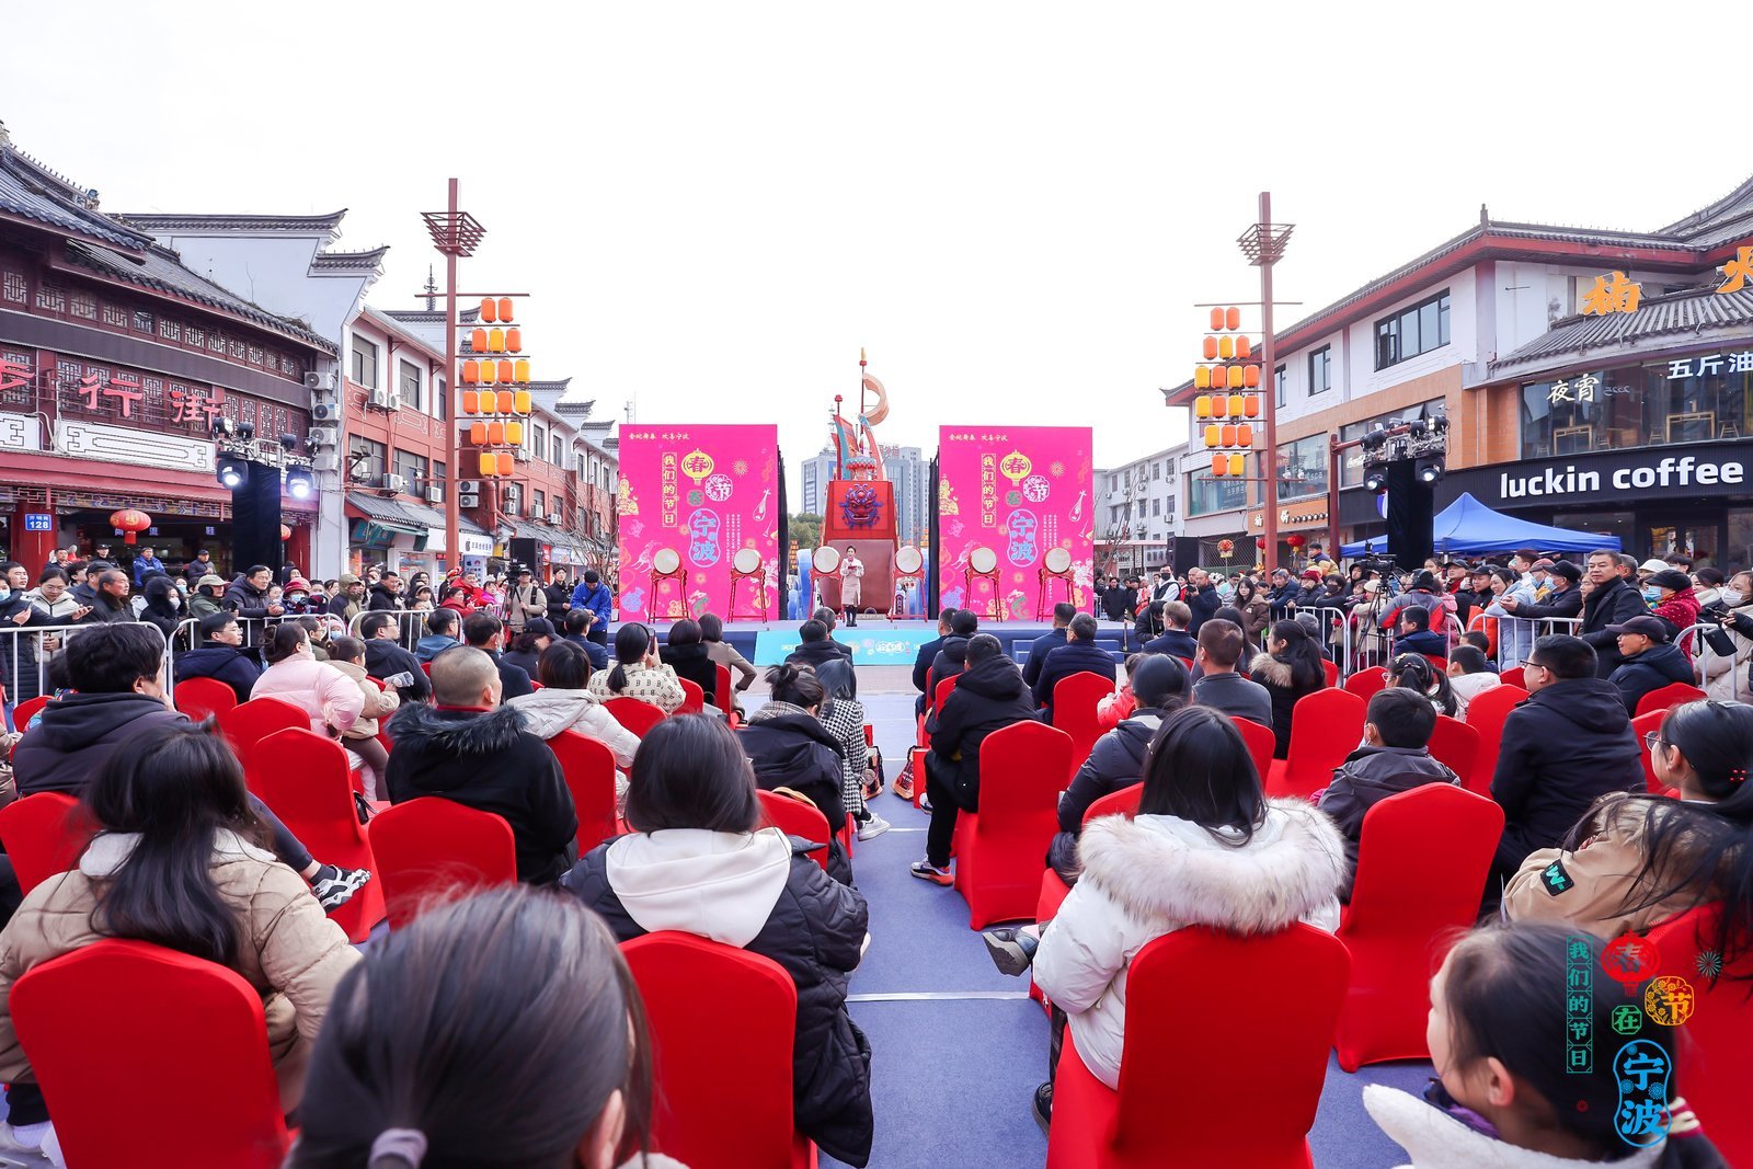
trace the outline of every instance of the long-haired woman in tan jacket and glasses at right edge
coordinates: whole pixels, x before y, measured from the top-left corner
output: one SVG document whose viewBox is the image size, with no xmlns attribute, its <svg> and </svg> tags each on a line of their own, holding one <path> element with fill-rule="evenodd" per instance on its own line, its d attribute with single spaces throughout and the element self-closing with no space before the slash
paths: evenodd
<svg viewBox="0 0 1753 1169">
<path fill-rule="evenodd" d="M 1616 938 L 1723 901 L 1711 948 L 1730 964 L 1753 945 L 1753 706 L 1674 706 L 1650 740 L 1655 775 L 1679 799 L 1604 796 L 1564 848 L 1529 854 L 1504 890 L 1504 913 Z"/>
</svg>

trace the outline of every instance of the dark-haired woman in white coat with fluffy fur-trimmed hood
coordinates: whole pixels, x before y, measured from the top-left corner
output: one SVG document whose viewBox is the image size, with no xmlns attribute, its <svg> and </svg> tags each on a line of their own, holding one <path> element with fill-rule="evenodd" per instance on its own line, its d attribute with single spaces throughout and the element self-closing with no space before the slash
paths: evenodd
<svg viewBox="0 0 1753 1169">
<path fill-rule="evenodd" d="M 1145 757 L 1136 817 L 1083 827 L 1083 875 L 1034 955 L 1034 981 L 1068 1017 L 1090 1073 L 1117 1087 L 1132 955 L 1187 925 L 1260 934 L 1339 924 L 1345 841 L 1304 799 L 1267 799 L 1229 715 L 1187 706 Z M 1052 1085 L 1036 1111 L 1052 1109 Z"/>
</svg>

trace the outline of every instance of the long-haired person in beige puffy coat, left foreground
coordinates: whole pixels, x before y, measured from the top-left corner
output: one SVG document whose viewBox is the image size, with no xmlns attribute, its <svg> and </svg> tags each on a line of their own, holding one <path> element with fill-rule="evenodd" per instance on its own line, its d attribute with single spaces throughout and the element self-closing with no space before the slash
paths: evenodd
<svg viewBox="0 0 1753 1169">
<path fill-rule="evenodd" d="M 237 971 L 261 994 L 280 1104 L 295 1108 L 335 983 L 359 952 L 303 878 L 261 845 L 266 832 L 237 757 L 217 733 L 161 724 L 96 773 L 86 810 L 100 834 L 77 868 L 37 885 L 0 932 L 0 1080 L 11 1085 L 0 1144 L 39 1148 L 53 1136 L 12 1029 L 12 983 L 105 938 L 153 941 Z M 209 882 L 179 883 L 195 857 L 205 857 Z"/>
</svg>

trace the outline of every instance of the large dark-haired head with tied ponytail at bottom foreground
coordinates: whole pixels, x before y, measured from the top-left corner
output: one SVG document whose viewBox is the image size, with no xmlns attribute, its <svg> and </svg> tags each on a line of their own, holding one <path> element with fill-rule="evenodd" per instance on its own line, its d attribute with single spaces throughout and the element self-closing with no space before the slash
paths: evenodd
<svg viewBox="0 0 1753 1169">
<path fill-rule="evenodd" d="M 286 1164 L 608 1169 L 650 1146 L 650 1116 L 645 1006 L 614 934 L 570 897 L 494 889 L 380 939 L 342 981 Z"/>
</svg>

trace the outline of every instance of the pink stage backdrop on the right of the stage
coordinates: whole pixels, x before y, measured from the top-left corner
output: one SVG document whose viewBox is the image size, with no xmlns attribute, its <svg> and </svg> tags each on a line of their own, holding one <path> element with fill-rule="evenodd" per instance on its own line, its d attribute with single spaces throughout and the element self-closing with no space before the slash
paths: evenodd
<svg viewBox="0 0 1753 1169">
<path fill-rule="evenodd" d="M 1057 601 L 1089 612 L 1096 554 L 1090 428 L 945 426 L 938 470 L 943 605 L 990 619 L 996 601 L 997 620 L 1040 620 Z M 992 575 L 969 577 L 982 549 L 992 554 Z M 1068 559 L 1069 585 L 1047 571 L 1054 549 Z"/>
</svg>

